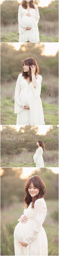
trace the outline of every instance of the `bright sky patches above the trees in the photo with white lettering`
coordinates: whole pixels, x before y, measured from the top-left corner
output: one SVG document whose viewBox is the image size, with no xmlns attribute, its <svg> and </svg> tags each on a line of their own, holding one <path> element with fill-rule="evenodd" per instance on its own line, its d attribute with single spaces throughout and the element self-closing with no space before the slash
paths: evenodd
<svg viewBox="0 0 59 256">
<path fill-rule="evenodd" d="M 2 126 L 3 125 L 1 125 L 1 130 L 2 130 Z M 9 125 L 9 126 L 15 128 L 18 132 L 20 127 L 23 127 L 25 125 Z M 38 129 L 39 129 L 38 134 L 39 135 L 42 135 L 42 134 L 45 135 L 47 133 L 47 130 L 50 129 L 50 127 L 52 129 L 52 125 L 35 125 L 35 126 L 38 126 Z"/>
</svg>

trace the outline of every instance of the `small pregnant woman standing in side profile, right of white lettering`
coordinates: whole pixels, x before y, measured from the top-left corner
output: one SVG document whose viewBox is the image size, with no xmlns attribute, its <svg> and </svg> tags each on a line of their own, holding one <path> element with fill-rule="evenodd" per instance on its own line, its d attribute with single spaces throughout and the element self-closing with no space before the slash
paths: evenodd
<svg viewBox="0 0 59 256">
<path fill-rule="evenodd" d="M 45 167 L 42 157 L 43 151 L 45 151 L 45 145 L 41 140 L 38 140 L 36 145 L 37 149 L 35 155 L 33 156 L 33 160 L 36 163 L 36 167 Z"/>
</svg>

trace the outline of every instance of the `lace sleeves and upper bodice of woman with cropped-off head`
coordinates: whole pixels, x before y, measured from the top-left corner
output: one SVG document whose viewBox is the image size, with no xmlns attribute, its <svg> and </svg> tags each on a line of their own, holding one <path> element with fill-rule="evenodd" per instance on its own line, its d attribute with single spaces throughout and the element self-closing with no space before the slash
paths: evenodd
<svg viewBox="0 0 59 256">
<path fill-rule="evenodd" d="M 33 20 L 33 25 L 36 26 L 38 24 L 40 16 L 39 16 L 37 5 L 35 4 L 34 6 L 35 6 L 35 9 L 31 8 L 29 12 Z M 20 5 L 18 10 L 19 34 L 22 34 L 27 27 L 27 26 L 24 26 L 24 24 L 22 23 L 22 16 L 26 15 L 27 13 L 28 13 L 28 10 L 24 9 L 22 5 Z"/>
</svg>

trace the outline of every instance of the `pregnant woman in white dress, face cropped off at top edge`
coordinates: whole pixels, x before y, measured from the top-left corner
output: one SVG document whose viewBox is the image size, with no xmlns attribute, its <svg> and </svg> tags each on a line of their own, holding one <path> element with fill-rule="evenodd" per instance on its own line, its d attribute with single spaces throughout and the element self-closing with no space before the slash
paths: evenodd
<svg viewBox="0 0 59 256">
<path fill-rule="evenodd" d="M 39 11 L 34 1 L 22 1 L 18 10 L 19 42 L 39 42 Z"/>
</svg>

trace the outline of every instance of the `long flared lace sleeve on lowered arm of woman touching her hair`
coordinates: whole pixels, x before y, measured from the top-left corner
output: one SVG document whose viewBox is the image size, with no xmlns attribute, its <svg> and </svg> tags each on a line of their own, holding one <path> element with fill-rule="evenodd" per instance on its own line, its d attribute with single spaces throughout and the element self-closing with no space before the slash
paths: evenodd
<svg viewBox="0 0 59 256">
<path fill-rule="evenodd" d="M 20 75 L 18 76 L 15 94 L 14 94 L 14 113 L 20 113 L 24 108 L 24 104 L 20 101 Z"/>
</svg>

